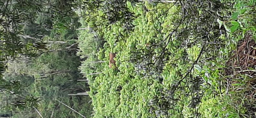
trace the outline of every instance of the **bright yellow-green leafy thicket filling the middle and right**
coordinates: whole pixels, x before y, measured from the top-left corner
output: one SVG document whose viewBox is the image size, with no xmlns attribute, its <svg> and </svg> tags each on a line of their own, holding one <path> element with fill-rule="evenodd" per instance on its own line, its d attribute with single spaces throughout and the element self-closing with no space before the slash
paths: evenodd
<svg viewBox="0 0 256 118">
<path fill-rule="evenodd" d="M 90 15 L 81 19 L 82 28 L 90 29 L 80 33 L 80 55 L 89 56 L 80 69 L 90 84 L 95 118 L 253 117 L 248 105 L 255 101 L 240 99 L 243 91 L 232 92 L 250 78 L 231 84 L 225 66 L 243 34 L 255 33 L 255 1 L 127 1 L 131 31 L 124 17 L 109 25 L 113 20 L 104 19 L 111 16 L 105 5 L 81 13 Z M 94 51 L 89 53 L 85 47 L 93 42 L 87 36 L 92 30 L 106 43 L 100 50 L 90 43 Z M 118 73 L 108 63 L 90 63 L 108 60 L 109 52 L 117 53 Z M 89 75 L 98 72 L 103 74 Z M 245 99 L 250 102 L 241 104 Z"/>
</svg>

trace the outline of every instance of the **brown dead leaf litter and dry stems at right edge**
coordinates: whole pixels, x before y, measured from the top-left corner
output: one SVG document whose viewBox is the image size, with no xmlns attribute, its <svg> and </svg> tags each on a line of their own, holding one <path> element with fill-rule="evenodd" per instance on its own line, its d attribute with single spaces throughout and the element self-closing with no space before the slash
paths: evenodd
<svg viewBox="0 0 256 118">
<path fill-rule="evenodd" d="M 239 99 L 244 100 L 243 107 L 247 110 L 245 114 L 256 117 L 256 43 L 252 35 L 244 37 L 238 42 L 236 51 L 233 51 L 233 57 L 226 63 L 228 68 L 225 68 L 225 75 L 230 77 L 228 91 L 242 93 Z M 246 79 L 241 75 L 247 75 Z M 245 83 L 246 86 L 239 86 L 240 83 Z M 241 103 L 240 100 L 237 102 Z"/>
</svg>

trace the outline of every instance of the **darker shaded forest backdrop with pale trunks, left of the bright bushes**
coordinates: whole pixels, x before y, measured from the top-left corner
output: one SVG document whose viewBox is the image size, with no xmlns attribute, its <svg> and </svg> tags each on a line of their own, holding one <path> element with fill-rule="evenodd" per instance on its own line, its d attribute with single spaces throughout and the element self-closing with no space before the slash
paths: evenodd
<svg viewBox="0 0 256 118">
<path fill-rule="evenodd" d="M 13 118 L 90 117 L 89 90 L 78 71 L 74 1 L 0 1 L 0 116 Z M 7 69 L 5 67 L 8 67 Z M 5 70 L 6 69 L 6 70 Z"/>
</svg>

